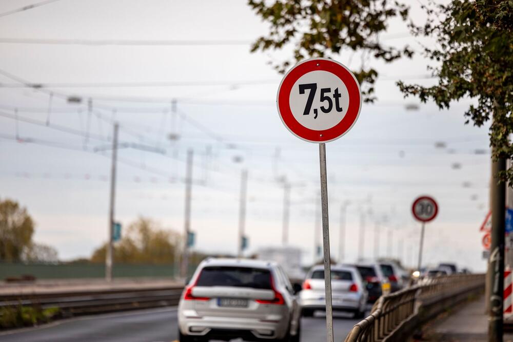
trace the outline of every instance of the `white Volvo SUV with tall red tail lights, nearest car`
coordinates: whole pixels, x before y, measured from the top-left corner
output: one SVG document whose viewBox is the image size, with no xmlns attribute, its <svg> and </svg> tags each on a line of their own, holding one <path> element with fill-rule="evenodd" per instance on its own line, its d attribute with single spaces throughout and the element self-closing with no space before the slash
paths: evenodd
<svg viewBox="0 0 513 342">
<path fill-rule="evenodd" d="M 275 262 L 206 259 L 180 299 L 179 340 L 299 342 L 299 290 Z"/>
</svg>

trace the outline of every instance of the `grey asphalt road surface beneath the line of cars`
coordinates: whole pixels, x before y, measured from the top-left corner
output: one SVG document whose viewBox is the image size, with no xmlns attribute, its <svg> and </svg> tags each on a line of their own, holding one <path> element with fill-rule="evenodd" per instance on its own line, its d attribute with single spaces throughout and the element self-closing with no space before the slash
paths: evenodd
<svg viewBox="0 0 513 342">
<path fill-rule="evenodd" d="M 340 342 L 359 320 L 343 313 L 336 315 L 334 337 Z M 302 342 L 326 340 L 324 315 L 317 313 L 314 317 L 303 318 L 301 325 Z M 0 332 L 0 342 L 171 342 L 176 338 L 176 308 L 78 317 L 36 328 Z"/>
</svg>

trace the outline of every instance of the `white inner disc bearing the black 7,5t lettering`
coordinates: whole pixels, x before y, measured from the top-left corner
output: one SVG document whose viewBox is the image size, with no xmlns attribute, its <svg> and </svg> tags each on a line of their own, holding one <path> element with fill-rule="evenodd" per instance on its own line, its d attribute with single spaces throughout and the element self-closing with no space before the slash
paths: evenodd
<svg viewBox="0 0 513 342">
<path fill-rule="evenodd" d="M 302 126 L 325 130 L 344 119 L 349 107 L 349 92 L 337 75 L 315 70 L 294 83 L 289 103 L 292 115 Z"/>
</svg>

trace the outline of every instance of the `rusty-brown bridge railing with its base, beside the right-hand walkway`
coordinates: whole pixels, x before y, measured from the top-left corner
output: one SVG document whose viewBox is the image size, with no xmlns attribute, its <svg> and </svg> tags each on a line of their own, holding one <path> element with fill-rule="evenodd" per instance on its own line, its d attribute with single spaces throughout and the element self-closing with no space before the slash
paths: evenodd
<svg viewBox="0 0 513 342">
<path fill-rule="evenodd" d="M 345 342 L 406 340 L 423 321 L 484 289 L 484 274 L 457 274 L 426 279 L 381 296 L 370 315 L 356 324 Z M 401 337 L 401 338 L 399 338 Z"/>
</svg>

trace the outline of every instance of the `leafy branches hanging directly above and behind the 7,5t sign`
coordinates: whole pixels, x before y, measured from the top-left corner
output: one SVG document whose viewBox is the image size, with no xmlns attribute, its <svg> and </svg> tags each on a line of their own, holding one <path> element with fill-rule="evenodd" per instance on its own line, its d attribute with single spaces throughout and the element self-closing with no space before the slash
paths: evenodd
<svg viewBox="0 0 513 342">
<path fill-rule="evenodd" d="M 270 25 L 269 35 L 260 37 L 251 51 L 282 49 L 293 46 L 293 60 L 339 54 L 343 49 L 391 62 L 403 54 L 412 55 L 408 47 L 402 50 L 380 42 L 379 34 L 387 21 L 396 16 L 406 19 L 408 8 L 390 0 L 249 0 L 251 6 Z M 285 72 L 287 60 L 275 65 Z M 373 84 L 378 72 L 362 62 L 354 72 L 362 85 L 365 101 L 373 101 Z"/>
</svg>

